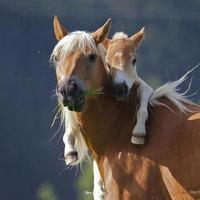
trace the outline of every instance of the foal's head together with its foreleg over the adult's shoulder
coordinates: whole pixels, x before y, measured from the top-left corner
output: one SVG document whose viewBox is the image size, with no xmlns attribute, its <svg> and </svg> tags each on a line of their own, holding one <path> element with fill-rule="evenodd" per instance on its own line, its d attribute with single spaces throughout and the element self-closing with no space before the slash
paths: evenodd
<svg viewBox="0 0 200 200">
<path fill-rule="evenodd" d="M 106 63 L 110 69 L 113 93 L 117 100 L 126 100 L 131 87 L 139 82 L 138 95 L 140 106 L 137 112 L 137 123 L 132 131 L 131 142 L 144 144 L 145 122 L 148 118 L 147 106 L 153 89 L 138 77 L 136 71 L 136 50 L 144 38 L 144 28 L 128 38 L 123 32 L 115 33 L 108 42 Z"/>
</svg>

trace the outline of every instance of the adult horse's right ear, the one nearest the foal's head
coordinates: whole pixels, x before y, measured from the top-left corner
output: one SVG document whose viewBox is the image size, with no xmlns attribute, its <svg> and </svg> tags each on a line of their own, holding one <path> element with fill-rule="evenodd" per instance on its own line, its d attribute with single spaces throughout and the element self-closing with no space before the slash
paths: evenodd
<svg viewBox="0 0 200 200">
<path fill-rule="evenodd" d="M 109 18 L 102 27 L 98 28 L 94 33 L 92 33 L 92 37 L 94 38 L 96 44 L 99 44 L 106 39 L 110 31 L 110 27 L 111 18 Z"/>
</svg>

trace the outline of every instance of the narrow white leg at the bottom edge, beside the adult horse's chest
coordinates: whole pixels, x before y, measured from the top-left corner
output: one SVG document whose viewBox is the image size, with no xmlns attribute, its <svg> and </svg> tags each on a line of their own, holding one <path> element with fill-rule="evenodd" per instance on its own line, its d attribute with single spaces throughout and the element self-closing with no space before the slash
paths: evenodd
<svg viewBox="0 0 200 200">
<path fill-rule="evenodd" d="M 103 200 L 104 199 L 104 186 L 99 173 L 99 168 L 96 161 L 93 161 L 93 174 L 94 174 L 94 188 L 93 188 L 93 199 Z"/>
</svg>

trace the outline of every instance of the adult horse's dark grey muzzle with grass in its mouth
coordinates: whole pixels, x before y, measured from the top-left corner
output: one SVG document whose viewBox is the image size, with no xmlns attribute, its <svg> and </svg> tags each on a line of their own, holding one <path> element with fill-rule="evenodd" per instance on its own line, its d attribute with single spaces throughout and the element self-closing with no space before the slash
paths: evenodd
<svg viewBox="0 0 200 200">
<path fill-rule="evenodd" d="M 75 78 L 64 79 L 57 86 L 57 96 L 65 107 L 71 111 L 80 112 L 83 108 L 85 98 L 83 87 Z"/>
</svg>

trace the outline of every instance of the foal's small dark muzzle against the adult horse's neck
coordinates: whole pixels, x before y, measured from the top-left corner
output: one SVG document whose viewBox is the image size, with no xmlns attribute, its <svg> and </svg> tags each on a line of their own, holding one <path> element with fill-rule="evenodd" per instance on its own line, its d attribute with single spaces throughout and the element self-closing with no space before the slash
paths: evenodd
<svg viewBox="0 0 200 200">
<path fill-rule="evenodd" d="M 113 84 L 113 95 L 116 100 L 124 101 L 128 97 L 128 86 L 126 82 Z"/>
</svg>

